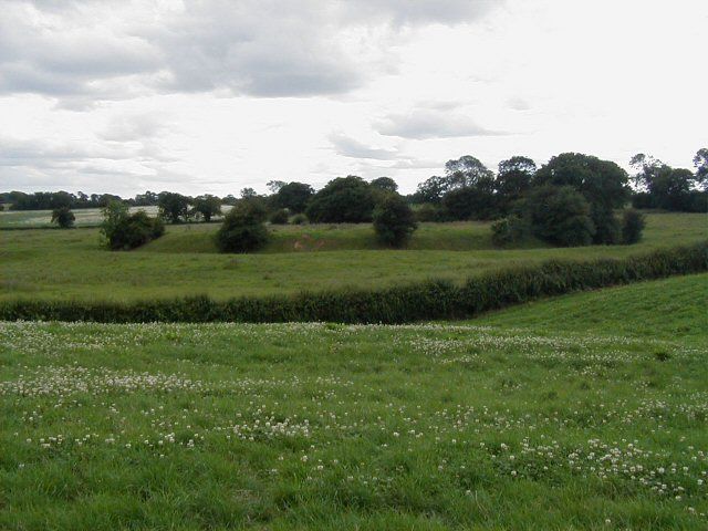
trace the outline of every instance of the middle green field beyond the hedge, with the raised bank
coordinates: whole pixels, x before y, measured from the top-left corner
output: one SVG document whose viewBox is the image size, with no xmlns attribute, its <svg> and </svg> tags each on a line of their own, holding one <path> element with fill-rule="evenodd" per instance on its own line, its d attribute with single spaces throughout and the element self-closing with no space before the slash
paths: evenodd
<svg viewBox="0 0 708 531">
<path fill-rule="evenodd" d="M 373 248 L 371 226 L 285 227 L 275 229 L 264 252 L 239 256 L 206 252 L 215 225 L 170 226 L 160 240 L 132 252 L 101 249 L 97 229 L 0 231 L 0 299 L 227 299 L 462 280 L 513 263 L 625 257 L 708 235 L 704 215 L 652 214 L 647 221 L 645 239 L 636 246 L 510 250 L 491 247 L 485 223 L 424 223 L 410 249 L 402 251 Z M 310 250 L 294 251 L 298 240 L 312 242 L 304 246 Z M 319 241 L 325 243 L 317 248 Z"/>
</svg>

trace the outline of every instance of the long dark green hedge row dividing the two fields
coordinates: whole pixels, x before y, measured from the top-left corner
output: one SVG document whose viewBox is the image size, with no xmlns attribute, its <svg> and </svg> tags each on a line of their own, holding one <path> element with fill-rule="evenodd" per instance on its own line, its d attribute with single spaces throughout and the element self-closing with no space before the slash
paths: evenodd
<svg viewBox="0 0 708 531">
<path fill-rule="evenodd" d="M 702 271 L 708 271 L 708 242 L 625 259 L 553 260 L 473 277 L 461 285 L 426 281 L 377 290 L 229 301 L 208 296 L 127 303 L 18 300 L 0 303 L 0 320 L 408 323 L 470 317 L 543 296 Z"/>
</svg>

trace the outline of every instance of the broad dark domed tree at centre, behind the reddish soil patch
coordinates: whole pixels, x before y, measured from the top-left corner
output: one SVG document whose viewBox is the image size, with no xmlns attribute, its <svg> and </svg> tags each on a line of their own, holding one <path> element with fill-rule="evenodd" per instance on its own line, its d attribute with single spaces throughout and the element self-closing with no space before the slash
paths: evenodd
<svg viewBox="0 0 708 531">
<path fill-rule="evenodd" d="M 361 223 L 372 220 L 372 187 L 361 177 L 339 177 L 317 191 L 308 206 L 313 222 Z"/>
</svg>

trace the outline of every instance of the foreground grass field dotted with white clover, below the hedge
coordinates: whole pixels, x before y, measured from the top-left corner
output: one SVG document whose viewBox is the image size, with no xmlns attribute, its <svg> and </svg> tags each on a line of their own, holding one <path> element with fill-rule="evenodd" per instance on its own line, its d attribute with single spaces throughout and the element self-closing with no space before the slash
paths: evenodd
<svg viewBox="0 0 708 531">
<path fill-rule="evenodd" d="M 707 282 L 478 325 L 3 323 L 0 529 L 706 529 Z"/>
</svg>

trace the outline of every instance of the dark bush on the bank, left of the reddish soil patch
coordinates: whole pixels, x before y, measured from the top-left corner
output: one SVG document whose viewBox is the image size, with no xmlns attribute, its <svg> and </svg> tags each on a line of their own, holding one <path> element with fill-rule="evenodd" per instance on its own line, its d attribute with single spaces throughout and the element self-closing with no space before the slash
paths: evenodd
<svg viewBox="0 0 708 531">
<path fill-rule="evenodd" d="M 269 239 L 266 208 L 260 201 L 242 199 L 223 218 L 217 231 L 221 252 L 249 252 L 263 247 Z"/>
</svg>

